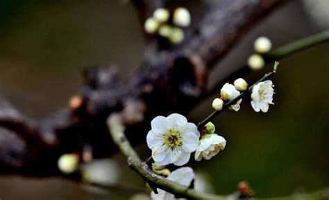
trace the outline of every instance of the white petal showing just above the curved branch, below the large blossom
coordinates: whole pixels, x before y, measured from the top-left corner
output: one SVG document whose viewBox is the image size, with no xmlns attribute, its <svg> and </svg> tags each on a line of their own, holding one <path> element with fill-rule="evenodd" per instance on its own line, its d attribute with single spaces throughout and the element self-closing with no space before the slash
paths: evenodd
<svg viewBox="0 0 329 200">
<path fill-rule="evenodd" d="M 195 179 L 195 174 L 191 167 L 180 167 L 171 172 L 167 179 L 180 185 L 189 186 L 193 179 Z"/>
</svg>

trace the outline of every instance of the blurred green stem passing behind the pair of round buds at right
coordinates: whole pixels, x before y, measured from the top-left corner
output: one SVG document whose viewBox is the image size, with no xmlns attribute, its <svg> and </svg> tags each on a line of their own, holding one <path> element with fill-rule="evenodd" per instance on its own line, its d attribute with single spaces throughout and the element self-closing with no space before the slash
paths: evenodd
<svg viewBox="0 0 329 200">
<path fill-rule="evenodd" d="M 264 58 L 265 64 L 269 64 L 275 60 L 279 60 L 282 57 L 287 57 L 288 55 L 292 55 L 306 48 L 310 48 L 317 44 L 323 44 L 326 42 L 329 42 L 329 30 L 305 37 L 303 39 L 299 39 L 296 42 L 292 42 L 286 44 L 285 46 L 276 48 L 275 50 L 262 55 L 262 57 Z M 214 93 L 217 93 L 218 89 L 222 87 L 226 82 L 233 82 L 236 78 L 243 77 L 248 73 L 251 73 L 251 71 L 252 70 L 247 65 L 241 67 L 237 71 L 231 73 L 228 78 L 217 82 L 214 87 L 208 89 L 208 91 L 205 92 L 205 97 L 212 96 Z"/>
</svg>

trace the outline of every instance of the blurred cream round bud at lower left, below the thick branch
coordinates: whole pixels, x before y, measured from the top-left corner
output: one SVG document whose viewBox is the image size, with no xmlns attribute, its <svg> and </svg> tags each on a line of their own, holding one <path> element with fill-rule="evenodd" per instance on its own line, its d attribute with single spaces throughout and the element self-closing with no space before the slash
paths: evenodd
<svg viewBox="0 0 329 200">
<path fill-rule="evenodd" d="M 57 165 L 61 172 L 71 174 L 78 169 L 78 156 L 76 154 L 62 154 Z"/>
</svg>

